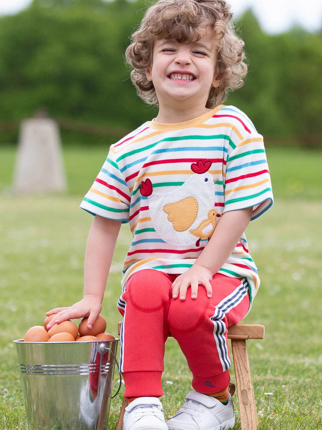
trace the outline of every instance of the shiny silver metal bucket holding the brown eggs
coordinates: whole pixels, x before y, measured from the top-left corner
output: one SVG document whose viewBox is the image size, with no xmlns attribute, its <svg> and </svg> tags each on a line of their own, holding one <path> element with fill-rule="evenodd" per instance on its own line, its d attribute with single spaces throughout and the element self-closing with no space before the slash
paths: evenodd
<svg viewBox="0 0 322 430">
<path fill-rule="evenodd" d="M 14 341 L 30 430 L 106 430 L 119 339 Z"/>
</svg>

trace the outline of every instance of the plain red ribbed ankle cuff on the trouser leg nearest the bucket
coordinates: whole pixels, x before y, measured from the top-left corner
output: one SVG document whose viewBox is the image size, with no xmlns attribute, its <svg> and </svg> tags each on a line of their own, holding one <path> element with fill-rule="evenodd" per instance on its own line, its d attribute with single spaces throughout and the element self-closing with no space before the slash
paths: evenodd
<svg viewBox="0 0 322 430">
<path fill-rule="evenodd" d="M 124 397 L 161 397 L 162 372 L 125 372 L 122 377 L 125 382 Z"/>
</svg>

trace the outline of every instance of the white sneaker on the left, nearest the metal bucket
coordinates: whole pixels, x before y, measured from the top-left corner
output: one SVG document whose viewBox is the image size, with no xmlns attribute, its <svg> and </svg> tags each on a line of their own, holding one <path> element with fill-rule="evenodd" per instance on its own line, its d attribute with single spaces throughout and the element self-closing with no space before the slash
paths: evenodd
<svg viewBox="0 0 322 430">
<path fill-rule="evenodd" d="M 158 397 L 138 397 L 126 408 L 123 430 L 168 430 Z"/>
</svg>

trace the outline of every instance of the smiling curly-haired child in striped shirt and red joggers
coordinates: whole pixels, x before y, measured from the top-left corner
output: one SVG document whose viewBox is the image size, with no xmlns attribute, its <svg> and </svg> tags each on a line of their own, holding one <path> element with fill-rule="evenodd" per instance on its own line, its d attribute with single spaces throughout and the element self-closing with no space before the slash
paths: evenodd
<svg viewBox="0 0 322 430">
<path fill-rule="evenodd" d="M 234 426 L 227 327 L 249 311 L 259 286 L 244 230 L 273 203 L 263 138 L 222 105 L 246 74 L 243 41 L 223 0 L 159 0 L 126 56 L 158 116 L 110 147 L 81 208 L 95 215 L 85 252 L 84 296 L 49 326 L 102 307 L 122 223 L 133 233 L 123 267 L 120 368 L 130 401 L 124 430 Z M 144 336 L 141 333 L 144 332 Z M 167 422 L 164 342 L 178 341 L 191 391 Z"/>
</svg>

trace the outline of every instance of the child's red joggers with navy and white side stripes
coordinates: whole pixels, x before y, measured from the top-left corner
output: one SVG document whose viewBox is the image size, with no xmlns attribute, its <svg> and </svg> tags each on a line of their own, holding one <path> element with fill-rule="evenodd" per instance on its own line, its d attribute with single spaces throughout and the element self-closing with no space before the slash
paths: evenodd
<svg viewBox="0 0 322 430">
<path fill-rule="evenodd" d="M 230 381 L 227 327 L 238 324 L 249 309 L 245 279 L 216 273 L 213 295 L 199 286 L 197 299 L 188 289 L 184 301 L 173 299 L 176 276 L 158 270 L 135 272 L 118 301 L 123 315 L 120 369 L 125 397 L 162 396 L 164 342 L 169 332 L 178 341 L 192 372 L 192 387 L 216 393 Z"/>
</svg>

